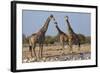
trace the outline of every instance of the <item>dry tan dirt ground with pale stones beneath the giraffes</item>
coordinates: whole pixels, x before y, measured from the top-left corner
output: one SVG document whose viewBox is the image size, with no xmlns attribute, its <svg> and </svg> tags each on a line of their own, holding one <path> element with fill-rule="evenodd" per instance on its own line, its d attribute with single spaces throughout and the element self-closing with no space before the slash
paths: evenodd
<svg viewBox="0 0 100 73">
<path fill-rule="evenodd" d="M 38 56 L 39 47 L 35 48 L 36 55 Z M 29 47 L 23 46 L 22 48 L 22 62 L 47 62 L 47 61 L 70 61 L 70 60 L 87 60 L 91 58 L 91 45 L 84 44 L 81 45 L 80 50 L 78 50 L 77 45 L 73 45 L 73 52 L 66 45 L 64 49 L 61 49 L 61 45 L 50 45 L 43 47 L 43 58 L 36 61 L 35 57 L 31 57 L 29 52 Z"/>
</svg>

